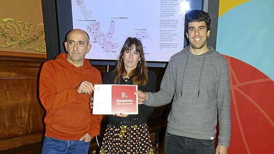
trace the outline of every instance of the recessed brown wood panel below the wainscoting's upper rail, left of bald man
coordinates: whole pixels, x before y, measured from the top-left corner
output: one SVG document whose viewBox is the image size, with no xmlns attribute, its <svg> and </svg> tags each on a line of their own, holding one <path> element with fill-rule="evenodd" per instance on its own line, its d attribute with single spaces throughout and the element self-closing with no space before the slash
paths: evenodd
<svg viewBox="0 0 274 154">
<path fill-rule="evenodd" d="M 44 110 L 37 101 L 36 79 L 0 79 L 0 139 L 43 132 Z"/>
</svg>

